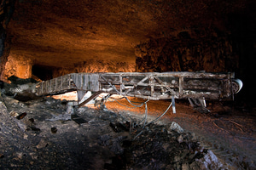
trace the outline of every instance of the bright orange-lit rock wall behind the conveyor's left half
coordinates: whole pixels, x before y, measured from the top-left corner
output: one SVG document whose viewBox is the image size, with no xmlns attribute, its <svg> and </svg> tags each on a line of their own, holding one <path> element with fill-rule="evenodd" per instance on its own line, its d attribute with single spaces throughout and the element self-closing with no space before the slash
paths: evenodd
<svg viewBox="0 0 256 170">
<path fill-rule="evenodd" d="M 82 63 L 73 65 L 69 68 L 48 67 L 36 65 L 37 71 L 34 69 L 34 60 L 28 56 L 18 56 L 10 52 L 5 61 L 1 63 L 2 74 L 1 80 L 9 82 L 8 77 L 15 76 L 20 78 L 34 78 L 41 80 L 49 80 L 51 78 L 60 77 L 69 73 L 76 72 L 134 72 L 136 65 L 133 63 L 117 62 L 113 60 L 89 59 Z M 42 75 L 44 77 L 42 77 Z M 39 80 L 38 79 L 38 80 Z"/>
</svg>

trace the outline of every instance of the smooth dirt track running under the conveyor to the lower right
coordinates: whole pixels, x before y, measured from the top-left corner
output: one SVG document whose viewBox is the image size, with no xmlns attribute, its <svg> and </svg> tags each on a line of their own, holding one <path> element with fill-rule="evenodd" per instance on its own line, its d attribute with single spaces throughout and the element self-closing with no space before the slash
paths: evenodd
<svg viewBox="0 0 256 170">
<path fill-rule="evenodd" d="M 142 99 L 133 99 L 143 101 Z M 148 113 L 151 116 L 160 116 L 171 101 L 149 101 Z M 128 104 L 123 99 L 120 103 Z M 232 102 L 207 103 L 208 114 L 201 114 L 193 110 L 189 101 L 176 101 L 176 114 L 172 108 L 161 119 L 177 122 L 189 133 L 195 133 L 201 145 L 212 150 L 213 153 L 230 164 L 236 164 L 237 168 L 247 169 L 256 161 L 256 110 L 236 107 Z M 115 103 L 107 103 L 107 107 L 113 111 L 130 110 Z M 135 111 L 133 109 L 133 111 Z M 144 114 L 144 108 L 136 109 L 137 114 Z M 233 162 L 233 163 L 232 163 Z M 247 166 L 245 166 L 247 162 Z"/>
</svg>

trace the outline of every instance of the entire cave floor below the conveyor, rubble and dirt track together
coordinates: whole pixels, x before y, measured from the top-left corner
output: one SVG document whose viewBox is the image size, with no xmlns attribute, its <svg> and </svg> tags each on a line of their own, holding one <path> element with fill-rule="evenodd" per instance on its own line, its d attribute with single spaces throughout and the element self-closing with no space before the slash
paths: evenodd
<svg viewBox="0 0 256 170">
<path fill-rule="evenodd" d="M 111 99 L 106 108 L 78 108 L 67 100 L 26 102 L 2 94 L 1 169 L 255 169 L 255 110 L 207 103 L 201 114 L 188 101 L 148 101 L 132 107 Z M 145 102 L 143 99 L 133 99 Z M 126 105 L 126 106 L 124 106 Z M 138 105 L 136 103 L 136 105 Z M 16 114 L 16 116 L 15 116 Z M 147 126 L 146 126 L 147 125 Z"/>
</svg>

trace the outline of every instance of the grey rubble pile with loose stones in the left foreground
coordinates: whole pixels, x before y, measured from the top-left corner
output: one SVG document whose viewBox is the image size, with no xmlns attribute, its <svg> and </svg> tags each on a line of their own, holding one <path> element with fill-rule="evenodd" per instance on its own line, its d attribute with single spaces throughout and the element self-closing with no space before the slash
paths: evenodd
<svg viewBox="0 0 256 170">
<path fill-rule="evenodd" d="M 143 127 L 139 117 L 125 112 L 70 111 L 66 100 L 2 96 L 1 168 L 227 168 L 174 122 Z"/>
</svg>

